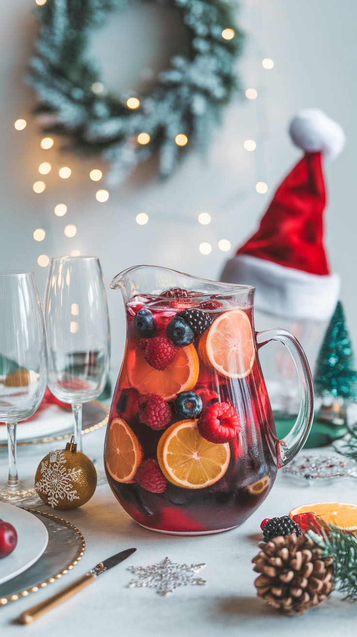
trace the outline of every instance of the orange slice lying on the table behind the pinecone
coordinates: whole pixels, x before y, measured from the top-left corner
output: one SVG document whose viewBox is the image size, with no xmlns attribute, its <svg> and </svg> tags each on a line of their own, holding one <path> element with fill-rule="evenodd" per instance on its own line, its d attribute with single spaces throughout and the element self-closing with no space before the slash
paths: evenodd
<svg viewBox="0 0 357 637">
<path fill-rule="evenodd" d="M 297 506 L 289 515 L 299 513 L 316 513 L 320 515 L 326 524 L 332 524 L 344 531 L 357 530 L 357 505 L 349 505 L 344 502 L 316 502 L 312 505 Z"/>
</svg>

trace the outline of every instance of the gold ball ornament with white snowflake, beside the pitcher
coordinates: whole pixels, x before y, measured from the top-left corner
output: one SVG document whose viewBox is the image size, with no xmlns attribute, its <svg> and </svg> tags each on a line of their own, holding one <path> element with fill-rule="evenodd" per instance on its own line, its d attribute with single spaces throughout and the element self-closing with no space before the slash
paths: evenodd
<svg viewBox="0 0 357 637">
<path fill-rule="evenodd" d="M 66 449 L 47 454 L 39 463 L 35 489 L 45 505 L 53 509 L 75 509 L 85 505 L 97 487 L 93 462 L 77 451 L 74 436 Z"/>
</svg>

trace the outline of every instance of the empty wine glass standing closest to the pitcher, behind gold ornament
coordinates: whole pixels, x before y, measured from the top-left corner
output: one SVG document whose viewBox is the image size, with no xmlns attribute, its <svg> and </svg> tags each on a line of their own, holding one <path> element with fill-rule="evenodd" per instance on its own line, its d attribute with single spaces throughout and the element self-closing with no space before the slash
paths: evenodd
<svg viewBox="0 0 357 637">
<path fill-rule="evenodd" d="M 74 441 L 82 450 L 82 403 L 101 394 L 110 357 L 109 317 L 97 257 L 51 260 L 45 292 L 48 386 L 71 403 Z"/>
</svg>

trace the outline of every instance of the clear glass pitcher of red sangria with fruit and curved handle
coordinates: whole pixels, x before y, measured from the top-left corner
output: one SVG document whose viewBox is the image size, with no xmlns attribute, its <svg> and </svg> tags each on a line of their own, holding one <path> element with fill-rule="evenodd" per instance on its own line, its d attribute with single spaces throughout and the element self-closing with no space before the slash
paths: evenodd
<svg viewBox="0 0 357 637">
<path fill-rule="evenodd" d="M 137 266 L 111 288 L 122 290 L 127 315 L 104 448 L 111 489 L 153 531 L 202 535 L 239 526 L 311 429 L 314 395 L 302 347 L 283 329 L 255 333 L 250 285 Z M 276 340 L 300 378 L 300 410 L 284 440 L 258 358 Z"/>
</svg>

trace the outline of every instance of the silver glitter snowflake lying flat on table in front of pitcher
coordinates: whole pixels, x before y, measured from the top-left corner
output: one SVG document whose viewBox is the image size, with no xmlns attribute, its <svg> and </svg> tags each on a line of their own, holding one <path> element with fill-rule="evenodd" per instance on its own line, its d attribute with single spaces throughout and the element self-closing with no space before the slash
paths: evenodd
<svg viewBox="0 0 357 637">
<path fill-rule="evenodd" d="M 195 577 L 201 568 L 206 564 L 175 564 L 168 557 L 153 564 L 152 566 L 130 566 L 128 571 L 136 575 L 136 579 L 129 582 L 129 588 L 139 588 L 143 586 L 157 589 L 160 595 L 166 597 L 174 592 L 179 586 L 202 586 L 206 584 L 205 580 Z"/>
</svg>

